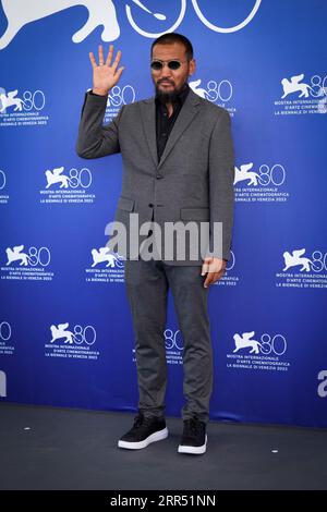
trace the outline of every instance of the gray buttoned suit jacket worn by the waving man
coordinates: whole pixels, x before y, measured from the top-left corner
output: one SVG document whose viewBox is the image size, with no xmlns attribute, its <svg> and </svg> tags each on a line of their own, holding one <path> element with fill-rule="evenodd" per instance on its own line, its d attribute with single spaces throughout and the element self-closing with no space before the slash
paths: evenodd
<svg viewBox="0 0 327 512">
<path fill-rule="evenodd" d="M 116 220 L 130 225 L 165 222 L 222 222 L 222 246 L 215 256 L 229 259 L 233 220 L 234 156 L 229 113 L 191 89 L 173 125 L 160 161 L 156 143 L 156 103 L 149 98 L 123 106 L 102 125 L 107 97 L 85 95 L 76 144 L 82 158 L 121 153 L 122 191 Z M 141 237 L 142 241 L 142 237 Z M 162 242 L 164 243 L 164 242 Z M 211 246 L 210 246 L 211 248 Z M 165 259 L 173 265 L 202 265 L 203 259 Z M 189 255 L 189 256 L 187 256 Z M 129 256 L 128 253 L 124 255 Z"/>
</svg>

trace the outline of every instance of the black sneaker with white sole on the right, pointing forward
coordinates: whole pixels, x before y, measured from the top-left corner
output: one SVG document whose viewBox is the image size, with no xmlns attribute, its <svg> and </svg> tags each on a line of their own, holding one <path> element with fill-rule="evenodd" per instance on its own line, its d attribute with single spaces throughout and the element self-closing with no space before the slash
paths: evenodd
<svg viewBox="0 0 327 512">
<path fill-rule="evenodd" d="M 207 448 L 206 424 L 197 418 L 184 419 L 184 428 L 179 453 L 201 455 Z"/>
</svg>

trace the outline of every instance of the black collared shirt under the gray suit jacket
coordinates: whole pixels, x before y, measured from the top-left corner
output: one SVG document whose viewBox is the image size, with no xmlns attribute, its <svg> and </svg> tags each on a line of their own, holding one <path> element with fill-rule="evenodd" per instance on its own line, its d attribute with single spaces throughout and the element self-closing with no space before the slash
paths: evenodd
<svg viewBox="0 0 327 512">
<path fill-rule="evenodd" d="M 156 135 L 158 161 L 160 161 L 168 137 L 184 105 L 189 90 L 190 86 L 186 83 L 183 90 L 181 90 L 181 93 L 178 95 L 177 101 L 172 103 L 172 114 L 170 118 L 168 115 L 168 109 L 166 105 L 156 98 Z"/>
</svg>

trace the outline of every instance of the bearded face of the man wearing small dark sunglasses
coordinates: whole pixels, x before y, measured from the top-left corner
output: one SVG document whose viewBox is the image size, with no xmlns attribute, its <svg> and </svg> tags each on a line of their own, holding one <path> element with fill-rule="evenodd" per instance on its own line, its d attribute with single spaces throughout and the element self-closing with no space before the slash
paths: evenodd
<svg viewBox="0 0 327 512">
<path fill-rule="evenodd" d="M 179 61 L 181 63 L 178 70 L 168 68 L 169 61 Z M 156 87 L 156 93 L 161 99 L 169 101 L 184 86 L 187 77 L 195 70 L 195 61 L 187 61 L 185 47 L 181 42 L 171 45 L 155 45 L 153 49 L 153 61 L 162 62 L 161 70 L 152 70 L 152 78 Z"/>
</svg>

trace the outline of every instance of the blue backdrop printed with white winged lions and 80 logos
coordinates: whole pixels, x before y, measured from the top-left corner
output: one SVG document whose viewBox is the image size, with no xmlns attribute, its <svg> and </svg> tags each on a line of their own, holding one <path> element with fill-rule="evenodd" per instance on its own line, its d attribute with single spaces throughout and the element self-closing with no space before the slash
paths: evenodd
<svg viewBox="0 0 327 512">
<path fill-rule="evenodd" d="M 124 261 L 105 235 L 122 159 L 83 160 L 75 143 L 88 52 L 122 50 L 106 124 L 154 95 L 150 45 L 178 32 L 237 158 L 232 257 L 209 290 L 211 418 L 327 426 L 326 21 L 324 0 L 1 1 L 0 402 L 136 410 Z M 165 339 L 179 416 L 171 295 Z"/>
</svg>

